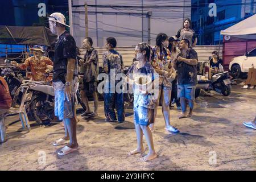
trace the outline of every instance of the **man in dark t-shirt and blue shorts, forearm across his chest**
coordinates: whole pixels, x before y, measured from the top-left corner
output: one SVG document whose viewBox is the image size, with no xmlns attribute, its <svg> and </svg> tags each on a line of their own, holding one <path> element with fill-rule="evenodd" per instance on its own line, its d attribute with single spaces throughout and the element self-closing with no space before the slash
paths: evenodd
<svg viewBox="0 0 256 182">
<path fill-rule="evenodd" d="M 177 89 L 180 98 L 182 114 L 179 118 L 191 117 L 195 101 L 195 90 L 197 82 L 197 53 L 194 49 L 189 48 L 189 40 L 183 39 L 179 43 L 181 53 L 174 62 L 177 68 Z M 187 101 L 189 104 L 189 114 L 187 115 Z"/>
</svg>

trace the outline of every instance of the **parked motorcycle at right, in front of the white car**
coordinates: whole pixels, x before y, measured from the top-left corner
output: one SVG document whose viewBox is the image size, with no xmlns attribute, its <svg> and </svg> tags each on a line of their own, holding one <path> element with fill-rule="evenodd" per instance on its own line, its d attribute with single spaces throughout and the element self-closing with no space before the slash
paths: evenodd
<svg viewBox="0 0 256 182">
<path fill-rule="evenodd" d="M 229 96 L 231 93 L 232 81 L 228 72 L 218 73 L 212 76 L 211 80 L 199 80 L 196 85 L 195 97 L 199 97 L 201 89 L 205 91 L 214 90 L 223 96 Z"/>
</svg>

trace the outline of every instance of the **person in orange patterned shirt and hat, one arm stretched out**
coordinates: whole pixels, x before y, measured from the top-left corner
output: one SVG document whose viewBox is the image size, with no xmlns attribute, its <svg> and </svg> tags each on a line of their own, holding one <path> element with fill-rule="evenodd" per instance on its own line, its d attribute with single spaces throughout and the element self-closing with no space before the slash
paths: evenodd
<svg viewBox="0 0 256 182">
<path fill-rule="evenodd" d="M 51 81 L 51 77 L 49 77 L 46 73 L 50 72 L 47 67 L 53 66 L 53 63 L 48 57 L 43 56 L 43 47 L 33 46 L 30 50 L 33 52 L 34 56 L 28 57 L 23 64 L 18 64 L 16 61 L 11 61 L 11 65 L 14 65 L 20 69 L 30 67 L 32 80 L 34 81 Z"/>
</svg>

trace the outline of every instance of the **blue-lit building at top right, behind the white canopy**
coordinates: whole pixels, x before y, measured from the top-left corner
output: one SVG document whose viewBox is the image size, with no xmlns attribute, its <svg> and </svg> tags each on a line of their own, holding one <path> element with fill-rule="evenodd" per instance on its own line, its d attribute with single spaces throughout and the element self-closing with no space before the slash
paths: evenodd
<svg viewBox="0 0 256 182">
<path fill-rule="evenodd" d="M 209 16 L 210 3 L 216 4 L 217 16 Z M 191 21 L 198 45 L 222 44 L 220 31 L 255 14 L 254 0 L 192 0 Z"/>
</svg>

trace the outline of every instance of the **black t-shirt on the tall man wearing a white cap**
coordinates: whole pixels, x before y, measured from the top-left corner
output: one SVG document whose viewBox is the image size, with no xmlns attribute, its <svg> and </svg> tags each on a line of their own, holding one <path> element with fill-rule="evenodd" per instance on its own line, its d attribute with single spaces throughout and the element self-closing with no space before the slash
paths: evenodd
<svg viewBox="0 0 256 182">
<path fill-rule="evenodd" d="M 53 82 L 62 81 L 65 84 L 68 59 L 75 59 L 75 72 L 77 76 L 77 52 L 76 42 L 69 32 L 65 31 L 55 42 L 55 54 L 53 60 Z"/>
</svg>

